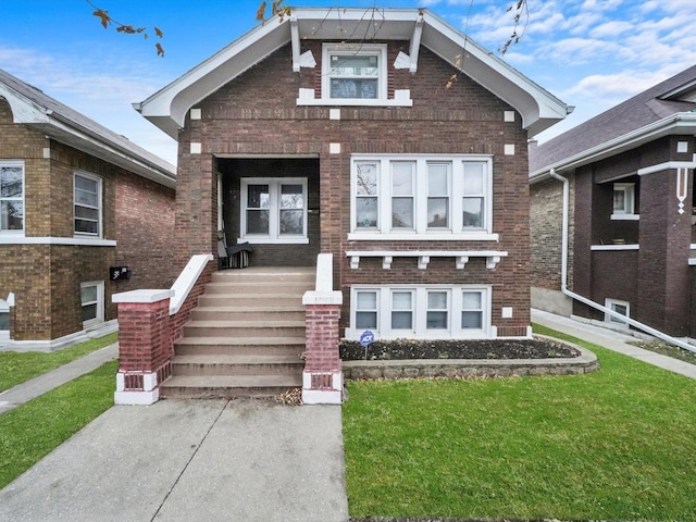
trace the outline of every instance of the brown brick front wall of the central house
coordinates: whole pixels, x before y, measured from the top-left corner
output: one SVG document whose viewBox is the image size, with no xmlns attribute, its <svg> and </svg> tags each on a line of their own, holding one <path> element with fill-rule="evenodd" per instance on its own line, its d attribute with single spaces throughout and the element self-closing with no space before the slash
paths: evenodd
<svg viewBox="0 0 696 522">
<path fill-rule="evenodd" d="M 321 42 L 303 42 L 321 61 Z M 388 46 L 391 64 L 406 42 Z M 335 259 L 335 286 L 344 291 L 352 282 L 372 284 L 406 282 L 409 278 L 445 284 L 490 283 L 494 286 L 494 324 L 524 327 L 530 324 L 530 225 L 526 133 L 517 122 L 504 122 L 508 104 L 472 82 L 464 74 L 450 89 L 447 80 L 455 70 L 422 48 L 419 71 L 390 71 L 390 89 L 411 89 L 412 108 L 341 108 L 340 121 L 328 119 L 326 107 L 298 107 L 298 89 L 320 83 L 321 64 L 293 73 L 290 47 L 286 46 L 208 97 L 197 107 L 202 120 L 187 121 L 179 134 L 176 245 L 177 265 L 194 253 L 215 251 L 216 209 L 211 207 L 214 161 L 219 156 L 310 156 L 320 160 L 321 251 Z M 202 154 L 189 153 L 190 142 L 202 144 Z M 341 145 L 340 154 L 330 154 L 328 145 Z M 515 146 L 505 156 L 504 146 Z M 494 232 L 499 243 L 449 241 L 439 244 L 365 241 L 349 243 L 350 156 L 393 154 L 493 154 Z M 229 226 L 229 225 L 227 225 Z M 408 269 L 413 260 L 396 260 L 391 271 L 374 269 L 361 261 L 349 268 L 345 251 L 383 248 L 496 249 L 508 251 L 495 271 L 472 260 L 464 272 L 453 259 L 432 261 L 426 271 Z M 478 268 L 477 268 L 478 266 Z M 465 274 L 465 275 L 464 275 Z M 347 300 L 346 300 L 347 301 Z M 514 318 L 500 319 L 500 307 L 514 308 Z M 348 304 L 341 325 L 347 324 Z"/>
</svg>

